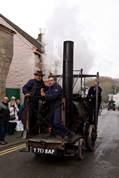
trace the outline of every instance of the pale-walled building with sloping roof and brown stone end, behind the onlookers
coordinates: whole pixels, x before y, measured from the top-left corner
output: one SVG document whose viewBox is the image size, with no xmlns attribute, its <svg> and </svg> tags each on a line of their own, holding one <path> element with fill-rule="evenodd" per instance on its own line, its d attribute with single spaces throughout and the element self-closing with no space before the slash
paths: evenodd
<svg viewBox="0 0 119 178">
<path fill-rule="evenodd" d="M 42 43 L 0 14 L 0 97 L 20 97 L 21 88 L 42 69 Z"/>
</svg>

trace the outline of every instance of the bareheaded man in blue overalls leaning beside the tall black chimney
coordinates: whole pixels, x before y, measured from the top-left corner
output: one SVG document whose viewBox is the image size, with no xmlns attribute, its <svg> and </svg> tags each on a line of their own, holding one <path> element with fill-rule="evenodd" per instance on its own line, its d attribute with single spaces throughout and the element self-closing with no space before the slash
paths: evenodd
<svg viewBox="0 0 119 178">
<path fill-rule="evenodd" d="M 71 131 L 66 128 L 61 121 L 61 97 L 62 88 L 55 81 L 55 78 L 49 77 L 49 86 L 46 92 L 41 90 L 41 96 L 45 97 L 46 101 L 50 103 L 51 109 L 51 125 L 56 133 L 61 137 L 71 136 Z"/>
</svg>

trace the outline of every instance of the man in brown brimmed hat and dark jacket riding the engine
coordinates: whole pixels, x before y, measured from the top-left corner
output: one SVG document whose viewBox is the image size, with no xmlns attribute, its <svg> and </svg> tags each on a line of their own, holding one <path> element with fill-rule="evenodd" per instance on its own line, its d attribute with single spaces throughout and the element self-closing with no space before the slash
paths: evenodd
<svg viewBox="0 0 119 178">
<path fill-rule="evenodd" d="M 29 80 L 22 88 L 23 94 L 25 95 L 24 102 L 28 102 L 29 98 L 29 130 L 31 135 L 36 135 L 38 133 L 37 127 L 37 110 L 38 101 L 40 96 L 41 88 L 45 88 L 43 82 L 43 72 L 36 71 L 34 73 L 34 79 Z M 26 104 L 24 104 L 26 105 Z"/>
</svg>

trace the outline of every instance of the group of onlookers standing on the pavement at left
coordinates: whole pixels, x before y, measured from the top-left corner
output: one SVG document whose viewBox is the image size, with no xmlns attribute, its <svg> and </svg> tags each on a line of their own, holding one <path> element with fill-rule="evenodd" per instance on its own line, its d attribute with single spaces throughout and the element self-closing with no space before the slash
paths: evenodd
<svg viewBox="0 0 119 178">
<path fill-rule="evenodd" d="M 12 96 L 9 100 L 7 96 L 0 102 L 0 145 L 7 144 L 6 134 L 13 135 L 20 118 L 22 104 L 19 99 Z"/>
</svg>

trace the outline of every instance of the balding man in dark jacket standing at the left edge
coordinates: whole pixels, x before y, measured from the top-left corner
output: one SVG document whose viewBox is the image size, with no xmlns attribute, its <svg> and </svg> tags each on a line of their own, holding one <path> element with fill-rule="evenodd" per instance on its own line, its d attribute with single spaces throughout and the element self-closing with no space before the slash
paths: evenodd
<svg viewBox="0 0 119 178">
<path fill-rule="evenodd" d="M 7 132 L 8 121 L 10 119 L 9 109 L 8 109 L 8 97 L 4 97 L 2 102 L 0 102 L 0 145 L 5 145 L 5 135 Z"/>
</svg>

